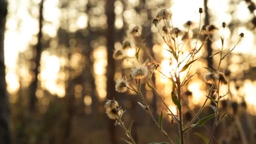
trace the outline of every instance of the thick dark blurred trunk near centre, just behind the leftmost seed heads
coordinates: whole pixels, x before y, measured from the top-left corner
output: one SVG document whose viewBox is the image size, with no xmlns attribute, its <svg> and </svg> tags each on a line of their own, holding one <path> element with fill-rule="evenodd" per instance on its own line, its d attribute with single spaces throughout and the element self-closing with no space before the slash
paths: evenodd
<svg viewBox="0 0 256 144">
<path fill-rule="evenodd" d="M 107 15 L 107 99 L 116 97 L 115 91 L 115 61 L 113 59 L 113 51 L 115 50 L 115 0 L 107 0 L 106 15 Z M 111 144 L 118 144 L 115 133 L 115 120 L 109 121 L 109 136 Z"/>
</svg>

